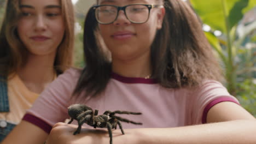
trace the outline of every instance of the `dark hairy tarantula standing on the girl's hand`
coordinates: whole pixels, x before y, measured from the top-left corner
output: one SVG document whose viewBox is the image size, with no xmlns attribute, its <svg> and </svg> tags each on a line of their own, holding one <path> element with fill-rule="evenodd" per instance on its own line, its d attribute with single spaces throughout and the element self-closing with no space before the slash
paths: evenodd
<svg viewBox="0 0 256 144">
<path fill-rule="evenodd" d="M 73 122 L 74 119 L 78 121 L 78 128 L 74 131 L 74 135 L 80 133 L 83 123 L 86 123 L 94 128 L 107 128 L 110 137 L 110 144 L 112 144 L 112 129 L 117 129 L 117 125 L 119 125 L 122 134 L 125 134 L 120 121 L 132 124 L 142 124 L 115 116 L 115 113 L 128 115 L 142 114 L 140 112 L 129 111 L 105 111 L 103 115 L 98 115 L 98 110 L 93 111 L 91 107 L 84 104 L 74 104 L 68 107 L 68 115 L 71 117 L 71 121 L 69 121 L 68 124 Z"/>
</svg>

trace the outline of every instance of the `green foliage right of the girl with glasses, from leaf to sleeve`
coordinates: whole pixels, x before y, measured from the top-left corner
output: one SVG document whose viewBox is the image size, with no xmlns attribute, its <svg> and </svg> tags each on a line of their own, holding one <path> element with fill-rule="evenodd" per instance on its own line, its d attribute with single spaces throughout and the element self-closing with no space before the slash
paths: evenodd
<svg viewBox="0 0 256 144">
<path fill-rule="evenodd" d="M 223 64 L 226 87 L 237 97 L 241 105 L 256 117 L 256 21 L 240 25 L 242 34 L 237 33 L 238 23 L 248 10 L 256 5 L 255 0 L 190 0 L 203 23 L 212 31 L 205 32 L 213 49 Z M 221 31 L 222 37 L 212 32 Z M 254 33 L 254 35 L 253 35 Z"/>
</svg>

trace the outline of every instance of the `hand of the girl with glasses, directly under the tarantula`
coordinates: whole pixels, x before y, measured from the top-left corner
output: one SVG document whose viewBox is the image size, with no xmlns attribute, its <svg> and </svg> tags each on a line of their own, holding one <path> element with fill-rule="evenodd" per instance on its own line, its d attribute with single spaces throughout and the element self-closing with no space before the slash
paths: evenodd
<svg viewBox="0 0 256 144">
<path fill-rule="evenodd" d="M 109 143 L 108 131 L 105 129 L 93 129 L 82 127 L 80 134 L 73 135 L 78 125 L 57 123 L 50 132 L 46 144 L 65 143 Z M 114 130 L 113 138 L 120 136 L 121 131 Z"/>
</svg>

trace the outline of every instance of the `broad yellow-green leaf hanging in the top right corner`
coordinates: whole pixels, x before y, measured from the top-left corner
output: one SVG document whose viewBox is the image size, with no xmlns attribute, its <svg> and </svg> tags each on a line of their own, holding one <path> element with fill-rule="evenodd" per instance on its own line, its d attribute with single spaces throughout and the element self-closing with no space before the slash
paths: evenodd
<svg viewBox="0 0 256 144">
<path fill-rule="evenodd" d="M 255 0 L 190 0 L 203 23 L 215 30 L 226 33 L 226 21 L 229 28 L 242 19 L 243 14 L 256 5 Z M 228 29 L 228 30 L 230 30 Z"/>
</svg>

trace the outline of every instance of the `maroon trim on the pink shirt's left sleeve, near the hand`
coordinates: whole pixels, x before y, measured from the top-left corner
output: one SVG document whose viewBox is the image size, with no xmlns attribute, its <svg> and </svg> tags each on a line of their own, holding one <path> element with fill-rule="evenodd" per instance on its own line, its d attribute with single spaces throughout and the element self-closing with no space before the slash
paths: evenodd
<svg viewBox="0 0 256 144">
<path fill-rule="evenodd" d="M 22 120 L 30 122 L 34 125 L 37 125 L 37 127 L 43 129 L 46 133 L 50 134 L 50 131 L 53 127 L 49 125 L 48 123 L 44 122 L 42 119 L 35 117 L 33 115 L 27 114 L 22 118 Z"/>
</svg>

